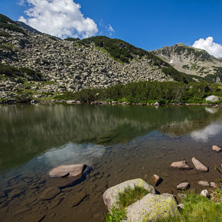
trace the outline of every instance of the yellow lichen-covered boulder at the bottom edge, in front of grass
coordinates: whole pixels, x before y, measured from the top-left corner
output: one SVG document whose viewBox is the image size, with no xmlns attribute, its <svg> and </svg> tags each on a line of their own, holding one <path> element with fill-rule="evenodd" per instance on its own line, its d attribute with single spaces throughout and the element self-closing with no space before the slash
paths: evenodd
<svg viewBox="0 0 222 222">
<path fill-rule="evenodd" d="M 178 217 L 177 204 L 173 197 L 147 194 L 141 200 L 126 208 L 126 221 L 164 221 Z"/>
</svg>

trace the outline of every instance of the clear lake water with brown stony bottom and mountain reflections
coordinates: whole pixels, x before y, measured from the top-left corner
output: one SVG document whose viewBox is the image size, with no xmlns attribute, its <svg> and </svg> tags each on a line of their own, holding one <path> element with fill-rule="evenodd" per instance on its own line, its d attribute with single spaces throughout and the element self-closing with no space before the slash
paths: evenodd
<svg viewBox="0 0 222 222">
<path fill-rule="evenodd" d="M 0 136 L 0 221 L 104 221 L 103 192 L 125 180 L 149 182 L 155 173 L 163 178 L 160 193 L 177 194 L 180 182 L 200 192 L 199 180 L 221 176 L 214 167 L 222 153 L 211 147 L 222 146 L 222 109 L 2 105 Z M 180 160 L 193 167 L 192 157 L 209 172 L 169 167 Z M 93 168 L 84 181 L 39 199 L 50 169 L 77 163 Z"/>
</svg>

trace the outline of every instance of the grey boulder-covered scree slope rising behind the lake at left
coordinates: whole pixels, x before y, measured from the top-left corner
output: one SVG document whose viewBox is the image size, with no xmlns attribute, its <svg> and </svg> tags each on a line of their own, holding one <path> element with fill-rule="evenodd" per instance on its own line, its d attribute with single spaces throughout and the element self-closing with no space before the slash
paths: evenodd
<svg viewBox="0 0 222 222">
<path fill-rule="evenodd" d="M 4 69 L 0 71 L 1 99 L 13 98 L 19 93 L 44 98 L 50 94 L 75 92 L 82 88 L 108 87 L 135 81 L 173 80 L 162 71 L 162 67 L 169 65 L 150 53 L 142 56 L 132 54 L 130 61 L 117 61 L 93 41 L 61 40 L 30 32 L 23 27 L 0 16 L 0 64 L 4 69 L 5 65 L 18 69 L 10 75 L 4 73 Z M 18 73 L 21 67 L 39 73 L 42 78 L 39 80 L 45 81 L 28 79 L 26 72 Z"/>
</svg>

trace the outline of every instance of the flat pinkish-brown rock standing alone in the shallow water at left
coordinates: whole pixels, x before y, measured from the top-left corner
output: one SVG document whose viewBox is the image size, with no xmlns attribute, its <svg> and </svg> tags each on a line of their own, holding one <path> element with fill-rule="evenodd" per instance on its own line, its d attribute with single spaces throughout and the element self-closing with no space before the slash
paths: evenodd
<svg viewBox="0 0 222 222">
<path fill-rule="evenodd" d="M 61 165 L 49 172 L 50 177 L 76 177 L 82 174 L 85 164 Z"/>
</svg>

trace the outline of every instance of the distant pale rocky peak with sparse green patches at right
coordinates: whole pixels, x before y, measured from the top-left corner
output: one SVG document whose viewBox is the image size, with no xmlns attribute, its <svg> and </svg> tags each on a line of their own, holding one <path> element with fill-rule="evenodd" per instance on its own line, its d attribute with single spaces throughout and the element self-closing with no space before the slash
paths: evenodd
<svg viewBox="0 0 222 222">
<path fill-rule="evenodd" d="M 222 59 L 215 58 L 205 50 L 178 43 L 151 52 L 180 72 L 204 77 L 212 82 L 222 81 Z"/>
</svg>

